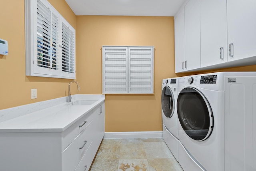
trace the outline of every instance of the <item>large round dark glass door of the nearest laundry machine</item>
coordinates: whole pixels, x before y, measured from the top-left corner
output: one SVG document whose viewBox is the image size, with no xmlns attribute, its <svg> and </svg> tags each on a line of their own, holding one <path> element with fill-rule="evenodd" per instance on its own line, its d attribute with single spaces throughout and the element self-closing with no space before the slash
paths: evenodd
<svg viewBox="0 0 256 171">
<path fill-rule="evenodd" d="M 180 91 L 177 99 L 177 112 L 180 124 L 192 139 L 203 141 L 213 129 L 213 115 L 210 104 L 204 95 L 192 87 Z"/>
</svg>

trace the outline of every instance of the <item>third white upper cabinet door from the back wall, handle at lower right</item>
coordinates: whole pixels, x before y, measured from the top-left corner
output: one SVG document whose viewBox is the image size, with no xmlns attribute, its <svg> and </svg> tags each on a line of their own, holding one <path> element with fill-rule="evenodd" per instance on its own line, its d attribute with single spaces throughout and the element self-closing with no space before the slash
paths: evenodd
<svg viewBox="0 0 256 171">
<path fill-rule="evenodd" d="M 200 0 L 200 16 L 201 67 L 227 62 L 226 1 Z"/>
</svg>

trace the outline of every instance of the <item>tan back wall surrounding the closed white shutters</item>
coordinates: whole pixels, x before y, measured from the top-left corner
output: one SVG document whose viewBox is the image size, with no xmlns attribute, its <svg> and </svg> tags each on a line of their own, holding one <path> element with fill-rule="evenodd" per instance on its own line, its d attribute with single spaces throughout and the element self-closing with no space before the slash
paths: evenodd
<svg viewBox="0 0 256 171">
<path fill-rule="evenodd" d="M 162 79 L 174 73 L 174 18 L 77 16 L 81 93 L 102 93 L 102 46 L 154 46 L 154 94 L 106 95 L 106 132 L 162 130 Z"/>
</svg>

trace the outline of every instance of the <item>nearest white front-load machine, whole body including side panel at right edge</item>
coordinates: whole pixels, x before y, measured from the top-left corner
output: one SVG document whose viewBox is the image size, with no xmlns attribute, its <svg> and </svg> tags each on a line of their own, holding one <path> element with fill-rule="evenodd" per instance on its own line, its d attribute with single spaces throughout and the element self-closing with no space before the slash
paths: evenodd
<svg viewBox="0 0 256 171">
<path fill-rule="evenodd" d="M 184 171 L 256 170 L 256 72 L 186 76 L 178 85 Z"/>
</svg>

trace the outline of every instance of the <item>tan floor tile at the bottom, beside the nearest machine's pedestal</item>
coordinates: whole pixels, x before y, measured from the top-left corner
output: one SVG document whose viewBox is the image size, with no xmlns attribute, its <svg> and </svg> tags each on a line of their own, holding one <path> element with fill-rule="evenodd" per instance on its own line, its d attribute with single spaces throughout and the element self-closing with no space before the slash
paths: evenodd
<svg viewBox="0 0 256 171">
<path fill-rule="evenodd" d="M 183 171 L 173 159 L 148 159 L 150 171 Z"/>
</svg>

